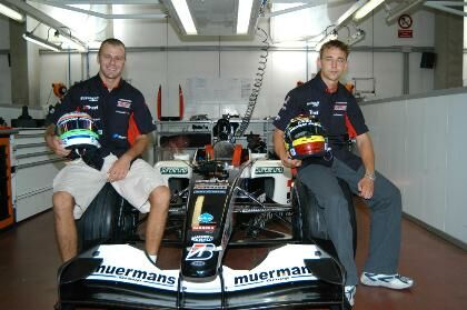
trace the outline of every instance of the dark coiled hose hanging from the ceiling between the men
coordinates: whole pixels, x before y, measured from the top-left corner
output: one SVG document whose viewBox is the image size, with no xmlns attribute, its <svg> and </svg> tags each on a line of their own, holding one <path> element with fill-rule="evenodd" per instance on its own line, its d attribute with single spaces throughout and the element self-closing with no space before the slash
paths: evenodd
<svg viewBox="0 0 467 310">
<path fill-rule="evenodd" d="M 258 100 L 258 96 L 261 90 L 262 79 L 265 78 L 266 63 L 268 62 L 268 54 L 269 54 L 268 33 L 266 33 L 266 31 L 259 27 L 257 28 L 257 30 L 261 31 L 264 34 L 264 39 L 261 40 L 262 47 L 260 48 L 261 54 L 259 56 L 258 71 L 256 73 L 251 93 L 248 98 L 248 107 L 247 107 L 247 110 L 245 111 L 244 118 L 241 119 L 241 123 L 238 127 L 235 134 L 237 138 L 242 137 L 248 126 L 250 124 L 251 116 L 255 111 L 256 101 Z"/>
</svg>

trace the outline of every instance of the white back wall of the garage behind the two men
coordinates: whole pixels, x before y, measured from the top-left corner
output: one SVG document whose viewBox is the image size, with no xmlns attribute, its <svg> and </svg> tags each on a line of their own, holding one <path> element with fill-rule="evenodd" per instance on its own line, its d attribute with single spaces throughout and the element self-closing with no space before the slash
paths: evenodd
<svg viewBox="0 0 467 310">
<path fill-rule="evenodd" d="M 349 3 L 351 4 L 351 3 Z M 346 6 L 331 6 L 329 10 L 330 19 L 336 19 L 344 12 Z M 127 6 L 113 6 L 113 13 L 121 13 Z M 127 7 L 128 8 L 128 7 Z M 128 9 L 135 12 L 131 7 Z M 332 11 L 334 10 L 334 11 Z M 385 12 L 378 10 L 375 16 L 366 18 L 361 27 L 366 30 L 366 39 L 357 47 L 433 47 L 434 46 L 434 14 L 433 12 L 420 10 L 413 16 L 414 37 L 413 39 L 398 39 L 397 24 L 387 24 Z M 266 31 L 269 30 L 269 21 L 260 20 L 260 26 Z M 260 37 L 255 37 L 250 41 L 240 41 L 232 38 L 182 38 L 176 30 L 162 21 L 141 21 L 141 20 L 115 20 L 113 34 L 121 39 L 129 48 L 165 48 L 165 47 L 192 47 L 208 46 L 259 46 Z M 341 39 L 347 38 L 347 30 L 339 31 Z M 159 84 L 162 86 L 163 114 L 178 116 L 178 84 L 185 90 L 185 100 L 189 104 L 190 98 L 186 92 L 187 80 L 201 77 L 212 78 L 250 78 L 257 72 L 259 51 L 152 51 L 129 52 L 125 77 L 142 91 L 147 103 L 156 116 L 156 96 Z M 89 71 L 93 76 L 98 71 L 96 53 L 89 53 Z M 288 90 L 295 87 L 298 80 L 306 80 L 307 76 L 316 73 L 316 59 L 318 53 L 315 51 L 270 51 L 267 62 L 264 86 L 258 98 L 255 118 L 275 116 L 279 110 L 282 99 Z M 220 59 L 219 59 L 220 58 Z M 410 53 L 410 93 L 421 93 L 433 89 L 433 70 L 420 69 L 421 53 Z M 70 63 L 69 63 L 70 59 Z M 307 61 L 308 60 L 308 61 Z M 78 54 L 41 54 L 39 57 L 40 72 L 37 82 L 39 83 L 38 100 L 41 106 L 50 104 L 56 99 L 49 99 L 51 83 L 62 81 L 68 83 L 68 72 L 70 67 L 70 84 L 86 77 L 83 62 Z M 344 81 L 351 81 L 352 78 L 376 79 L 376 96 L 368 99 L 388 98 L 400 96 L 403 91 L 403 53 L 400 52 L 367 52 L 354 51 L 349 58 L 349 71 Z M 70 64 L 70 66 L 69 66 Z M 308 67 L 308 68 L 307 68 Z M 33 97 L 34 98 L 34 97 Z M 54 102 L 53 102 L 54 103 Z M 246 104 L 247 102 L 245 102 Z M 244 106 L 245 107 L 245 106 Z M 199 108 L 203 111 L 205 107 Z M 211 109 L 206 107 L 212 117 L 218 116 L 219 108 Z M 240 109 L 241 110 L 241 109 Z M 190 114 L 186 114 L 189 118 Z"/>
</svg>

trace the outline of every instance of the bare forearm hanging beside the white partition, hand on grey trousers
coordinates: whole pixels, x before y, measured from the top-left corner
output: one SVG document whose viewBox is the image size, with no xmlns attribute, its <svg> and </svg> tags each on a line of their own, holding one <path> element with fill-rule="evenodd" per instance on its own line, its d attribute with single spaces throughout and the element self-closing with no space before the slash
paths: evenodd
<svg viewBox="0 0 467 310">
<path fill-rule="evenodd" d="M 365 176 L 358 182 L 360 197 L 370 199 L 375 190 L 375 151 L 368 132 L 357 136 L 357 147 L 365 167 Z"/>
</svg>

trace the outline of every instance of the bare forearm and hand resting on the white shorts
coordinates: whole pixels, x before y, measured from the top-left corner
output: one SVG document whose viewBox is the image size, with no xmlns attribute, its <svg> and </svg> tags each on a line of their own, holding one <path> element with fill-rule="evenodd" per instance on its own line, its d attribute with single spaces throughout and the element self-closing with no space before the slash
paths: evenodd
<svg viewBox="0 0 467 310">
<path fill-rule="evenodd" d="M 149 143 L 149 138 L 146 134 L 139 134 L 135 143 L 131 146 L 128 151 L 126 151 L 108 171 L 108 180 L 110 182 L 122 180 L 127 177 L 128 171 L 130 170 L 131 161 L 142 154 Z"/>
</svg>

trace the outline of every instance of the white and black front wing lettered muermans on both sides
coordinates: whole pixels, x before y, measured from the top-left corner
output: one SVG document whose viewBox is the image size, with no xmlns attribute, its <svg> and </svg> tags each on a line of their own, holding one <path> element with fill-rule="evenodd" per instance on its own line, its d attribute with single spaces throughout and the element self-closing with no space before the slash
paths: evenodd
<svg viewBox="0 0 467 310">
<path fill-rule="evenodd" d="M 153 266 L 129 244 L 102 244 L 59 270 L 61 306 L 119 309 L 271 309 L 342 304 L 340 266 L 316 244 L 272 249 L 250 270 L 222 266 L 215 280 L 190 282 Z"/>
</svg>

